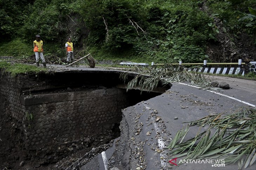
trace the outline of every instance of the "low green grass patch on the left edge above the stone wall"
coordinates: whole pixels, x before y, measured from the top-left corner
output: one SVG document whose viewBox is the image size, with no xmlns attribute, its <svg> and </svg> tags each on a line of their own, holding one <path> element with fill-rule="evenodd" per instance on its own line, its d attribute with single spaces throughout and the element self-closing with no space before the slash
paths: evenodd
<svg viewBox="0 0 256 170">
<path fill-rule="evenodd" d="M 31 66 L 27 64 L 21 63 L 14 63 L 11 64 L 9 62 L 0 61 L 0 68 L 4 69 L 4 72 L 9 72 L 13 77 L 18 74 L 28 74 L 28 73 L 39 73 L 39 72 L 46 72 L 46 68 L 40 68 L 36 66 Z"/>
</svg>

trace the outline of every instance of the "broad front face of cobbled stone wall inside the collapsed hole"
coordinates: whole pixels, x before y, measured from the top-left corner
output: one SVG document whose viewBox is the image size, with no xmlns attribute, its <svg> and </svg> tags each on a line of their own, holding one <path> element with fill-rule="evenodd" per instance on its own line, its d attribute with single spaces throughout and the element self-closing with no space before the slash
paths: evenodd
<svg viewBox="0 0 256 170">
<path fill-rule="evenodd" d="M 34 119 L 26 121 L 28 147 L 52 140 L 74 141 L 80 136 L 101 134 L 121 121 L 126 106 L 125 90 L 98 89 L 26 96 L 25 111 Z"/>
</svg>

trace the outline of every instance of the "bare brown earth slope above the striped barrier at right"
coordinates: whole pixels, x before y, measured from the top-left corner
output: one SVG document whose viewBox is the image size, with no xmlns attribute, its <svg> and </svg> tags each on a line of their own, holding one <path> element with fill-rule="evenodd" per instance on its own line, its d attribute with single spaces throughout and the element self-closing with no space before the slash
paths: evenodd
<svg viewBox="0 0 256 170">
<path fill-rule="evenodd" d="M 205 2 L 201 4 L 202 11 L 207 12 L 208 7 Z M 210 15 L 210 14 L 209 14 Z M 216 34 L 216 40 L 207 45 L 207 55 L 212 62 L 237 62 L 243 59 L 243 62 L 256 61 L 256 44 L 254 38 L 241 30 L 237 36 L 229 34 L 224 30 L 224 24 L 220 19 L 214 17 L 214 24 L 219 30 Z"/>
</svg>

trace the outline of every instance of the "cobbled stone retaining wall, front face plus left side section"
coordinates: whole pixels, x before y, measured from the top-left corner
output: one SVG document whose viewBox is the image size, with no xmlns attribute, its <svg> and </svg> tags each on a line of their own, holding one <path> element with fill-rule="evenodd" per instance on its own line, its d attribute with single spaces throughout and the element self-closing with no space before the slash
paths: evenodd
<svg viewBox="0 0 256 170">
<path fill-rule="evenodd" d="M 63 142 L 78 142 L 81 136 L 97 136 L 100 141 L 121 121 L 121 109 L 128 106 L 125 89 L 24 95 L 22 89 L 29 81 L 27 75 L 12 77 L 0 69 L 0 97 L 8 101 L 7 113 L 19 123 L 28 150 L 58 148 Z"/>
</svg>

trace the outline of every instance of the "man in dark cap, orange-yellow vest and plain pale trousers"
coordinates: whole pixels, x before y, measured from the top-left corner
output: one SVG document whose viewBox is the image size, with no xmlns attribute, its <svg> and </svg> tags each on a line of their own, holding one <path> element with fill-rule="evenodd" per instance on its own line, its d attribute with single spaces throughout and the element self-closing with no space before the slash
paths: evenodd
<svg viewBox="0 0 256 170">
<path fill-rule="evenodd" d="M 43 41 L 40 39 L 40 35 L 36 35 L 35 39 L 36 40 L 34 40 L 33 45 L 34 45 L 36 65 L 39 67 L 39 56 L 40 56 L 43 63 L 43 67 L 46 68 L 45 58 L 43 57 Z"/>
</svg>

